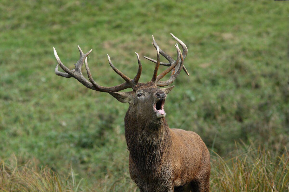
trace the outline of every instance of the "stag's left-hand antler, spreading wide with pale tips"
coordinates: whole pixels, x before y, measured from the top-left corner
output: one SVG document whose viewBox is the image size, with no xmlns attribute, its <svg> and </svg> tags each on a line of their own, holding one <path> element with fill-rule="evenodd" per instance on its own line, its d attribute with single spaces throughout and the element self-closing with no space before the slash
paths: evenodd
<svg viewBox="0 0 289 192">
<path fill-rule="evenodd" d="M 56 60 L 58 62 L 58 65 L 60 65 L 60 67 L 66 72 L 66 73 L 64 73 L 64 72 L 58 71 L 58 65 L 56 65 L 56 67 L 55 67 L 55 74 L 56 75 L 59 75 L 59 76 L 62 76 L 62 77 L 66 77 L 66 78 L 74 77 L 75 79 L 77 79 L 80 83 L 82 83 L 87 88 L 90 88 L 90 89 L 95 90 L 95 91 L 100 91 L 100 92 L 109 92 L 109 91 L 118 92 L 118 91 L 121 91 L 121 90 L 124 90 L 124 89 L 127 89 L 127 88 L 134 88 L 134 86 L 138 84 L 138 80 L 140 79 L 140 74 L 142 73 L 142 65 L 140 63 L 140 57 L 138 56 L 137 53 L 136 53 L 136 55 L 137 55 L 137 58 L 138 58 L 138 73 L 136 74 L 134 79 L 130 79 L 125 74 L 123 74 L 121 71 L 116 69 L 116 67 L 114 67 L 114 65 L 112 64 L 112 62 L 110 60 L 110 57 L 108 55 L 108 62 L 110 64 L 110 66 L 112 67 L 112 69 L 118 75 L 120 75 L 126 82 L 122 83 L 120 85 L 113 86 L 113 87 L 103 87 L 103 86 L 98 85 L 92 79 L 92 76 L 91 76 L 91 73 L 90 73 L 90 69 L 88 67 L 87 56 L 88 56 L 88 54 L 90 54 L 92 49 L 89 52 L 87 52 L 86 54 L 84 54 L 82 52 L 82 50 L 80 49 L 79 46 L 78 46 L 78 49 L 79 49 L 79 53 L 80 53 L 80 58 L 77 61 L 77 63 L 75 64 L 75 69 L 70 70 L 61 62 L 60 58 L 57 55 L 57 52 L 56 52 L 55 48 L 53 47 L 54 55 L 55 55 L 55 58 L 56 58 Z M 88 78 L 89 78 L 90 82 L 81 73 L 81 66 L 84 64 L 84 62 L 85 62 L 85 67 L 86 67 L 87 75 L 88 75 Z"/>
</svg>

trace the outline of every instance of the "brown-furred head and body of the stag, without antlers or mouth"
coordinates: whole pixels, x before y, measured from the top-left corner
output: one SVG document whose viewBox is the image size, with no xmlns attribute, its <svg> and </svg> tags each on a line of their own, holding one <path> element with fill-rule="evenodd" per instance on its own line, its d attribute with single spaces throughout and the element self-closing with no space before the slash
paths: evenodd
<svg viewBox="0 0 289 192">
<path fill-rule="evenodd" d="M 170 129 L 157 118 L 156 92 L 168 93 L 151 82 L 139 83 L 132 92 L 111 93 L 129 102 L 125 115 L 125 138 L 129 150 L 129 173 L 141 192 L 209 191 L 210 154 L 195 132 Z M 144 94 L 138 98 L 138 92 Z"/>
</svg>

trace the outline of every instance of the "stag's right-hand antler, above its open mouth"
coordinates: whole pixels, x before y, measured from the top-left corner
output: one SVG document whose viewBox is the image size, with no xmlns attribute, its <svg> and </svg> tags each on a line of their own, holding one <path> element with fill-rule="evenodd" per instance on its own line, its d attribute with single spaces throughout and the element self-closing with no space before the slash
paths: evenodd
<svg viewBox="0 0 289 192">
<path fill-rule="evenodd" d="M 176 39 L 182 46 L 183 48 L 183 53 L 186 54 L 188 53 L 188 49 L 186 47 L 186 45 L 179 40 L 177 37 L 175 37 L 173 34 L 171 34 L 173 36 L 174 39 Z M 153 38 L 153 45 L 156 47 L 157 49 L 157 60 L 153 60 L 151 58 L 145 57 L 146 59 L 155 62 L 155 71 L 153 73 L 153 78 L 151 79 L 152 82 L 155 83 L 156 86 L 160 86 L 160 87 L 164 87 L 167 85 L 170 85 L 171 83 L 173 83 L 175 81 L 175 79 L 177 78 L 177 76 L 179 75 L 179 73 L 181 72 L 181 69 L 184 69 L 184 58 L 185 56 L 183 56 L 183 54 L 181 53 L 181 50 L 179 49 L 178 44 L 176 43 L 175 47 L 177 48 L 177 60 L 173 60 L 173 58 L 171 56 L 169 56 L 168 54 L 166 54 L 165 52 L 163 52 L 162 50 L 160 50 L 159 46 L 156 44 L 155 39 Z M 160 53 L 162 54 L 162 56 L 164 56 L 170 63 L 162 63 L 160 62 Z M 166 65 L 166 66 L 170 66 L 168 69 L 166 69 L 165 71 L 163 71 L 160 75 L 157 76 L 158 73 L 158 68 L 160 66 L 160 64 L 162 65 Z M 172 71 L 173 70 L 173 71 Z M 166 74 L 168 74 L 170 71 L 172 71 L 171 73 L 171 77 L 166 80 L 166 81 L 160 81 L 160 79 L 162 79 Z M 186 71 L 186 70 L 185 70 Z M 187 73 L 187 72 L 186 72 Z M 188 73 L 187 73 L 188 74 Z M 189 74 L 188 74 L 189 75 Z"/>
</svg>

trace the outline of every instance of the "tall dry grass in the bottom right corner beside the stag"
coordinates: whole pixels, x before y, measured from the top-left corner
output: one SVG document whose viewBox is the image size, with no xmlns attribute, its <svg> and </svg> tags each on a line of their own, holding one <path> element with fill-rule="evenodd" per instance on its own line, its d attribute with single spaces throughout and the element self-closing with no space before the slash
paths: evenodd
<svg viewBox="0 0 289 192">
<path fill-rule="evenodd" d="M 217 153 L 211 159 L 212 191 L 289 191 L 289 151 L 266 151 L 253 145 L 238 147 L 224 160 Z"/>
</svg>

